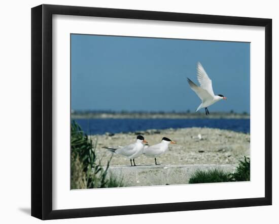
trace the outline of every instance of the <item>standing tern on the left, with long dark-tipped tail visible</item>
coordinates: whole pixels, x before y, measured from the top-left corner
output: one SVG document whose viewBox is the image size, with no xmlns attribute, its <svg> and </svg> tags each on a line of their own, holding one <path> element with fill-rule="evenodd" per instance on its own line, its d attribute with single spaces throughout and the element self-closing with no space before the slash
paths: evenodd
<svg viewBox="0 0 279 224">
<path fill-rule="evenodd" d="M 143 136 L 137 136 L 136 142 L 128 146 L 119 147 L 118 149 L 111 148 L 111 147 L 102 147 L 102 148 L 108 149 L 112 153 L 128 157 L 130 159 L 131 166 L 133 166 L 132 160 L 134 162 L 134 159 L 136 157 L 142 155 L 144 150 L 144 143 L 147 143 L 145 138 Z M 135 162 L 134 162 L 134 166 L 136 166 Z"/>
</svg>

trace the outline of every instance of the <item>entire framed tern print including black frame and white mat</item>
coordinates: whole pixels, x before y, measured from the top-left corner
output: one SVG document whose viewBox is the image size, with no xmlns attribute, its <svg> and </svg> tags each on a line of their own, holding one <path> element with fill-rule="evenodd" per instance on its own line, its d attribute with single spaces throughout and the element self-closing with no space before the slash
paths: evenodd
<svg viewBox="0 0 279 224">
<path fill-rule="evenodd" d="M 31 11 L 31 215 L 271 205 L 271 19 Z"/>
</svg>

